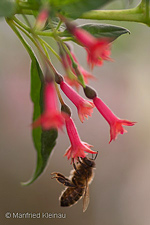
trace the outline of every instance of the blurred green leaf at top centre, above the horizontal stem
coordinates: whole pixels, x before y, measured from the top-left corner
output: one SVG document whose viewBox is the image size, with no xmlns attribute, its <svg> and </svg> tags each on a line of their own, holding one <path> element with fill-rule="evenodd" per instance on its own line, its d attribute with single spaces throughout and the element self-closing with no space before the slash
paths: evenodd
<svg viewBox="0 0 150 225">
<path fill-rule="evenodd" d="M 112 0 L 49 0 L 56 11 L 70 18 L 78 18 L 83 13 L 101 8 Z"/>
</svg>

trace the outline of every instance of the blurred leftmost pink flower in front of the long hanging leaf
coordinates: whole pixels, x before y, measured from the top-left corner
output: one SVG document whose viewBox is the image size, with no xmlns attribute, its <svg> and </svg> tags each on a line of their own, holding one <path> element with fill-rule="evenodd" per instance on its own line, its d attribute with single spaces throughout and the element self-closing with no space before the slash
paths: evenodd
<svg viewBox="0 0 150 225">
<path fill-rule="evenodd" d="M 42 126 L 44 130 L 62 128 L 64 117 L 57 110 L 56 91 L 53 82 L 47 83 L 44 90 L 45 108 L 43 114 L 33 122 L 32 127 Z"/>
</svg>

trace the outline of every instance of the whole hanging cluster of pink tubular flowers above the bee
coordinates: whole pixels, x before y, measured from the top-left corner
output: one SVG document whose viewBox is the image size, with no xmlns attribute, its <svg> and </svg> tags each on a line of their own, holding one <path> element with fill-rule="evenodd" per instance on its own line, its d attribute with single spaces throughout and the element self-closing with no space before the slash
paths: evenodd
<svg viewBox="0 0 150 225">
<path fill-rule="evenodd" d="M 80 43 L 87 51 L 87 62 L 93 68 L 95 65 L 101 66 L 104 60 L 110 59 L 110 40 L 108 38 L 95 38 L 87 31 L 78 28 L 70 21 L 63 19 L 68 31 L 74 36 L 76 41 Z M 115 140 L 118 134 L 123 134 L 126 130 L 123 126 L 133 126 L 135 122 L 119 119 L 110 108 L 97 96 L 94 89 L 87 86 L 88 79 L 92 79 L 93 75 L 87 72 L 80 66 L 73 50 L 66 44 L 59 43 L 60 56 L 62 65 L 66 71 L 66 76 L 63 78 L 57 71 L 54 72 L 53 79 L 46 81 L 44 89 L 44 112 L 33 122 L 32 127 L 41 126 L 43 129 L 62 129 L 65 125 L 71 146 L 65 153 L 71 162 L 78 160 L 79 157 L 84 158 L 88 153 L 96 154 L 97 152 L 91 150 L 92 145 L 81 141 L 75 123 L 71 117 L 69 107 L 61 99 L 62 111 L 57 108 L 57 93 L 56 85 L 60 85 L 60 89 L 76 106 L 80 121 L 83 123 L 85 118 L 91 116 L 94 107 L 100 112 L 104 119 L 110 125 L 110 141 Z M 67 47 L 67 49 L 66 49 Z M 85 96 L 90 99 L 86 100 L 81 97 L 77 91 L 73 89 L 79 86 L 83 87 Z M 58 93 L 60 98 L 60 92 Z M 62 97 L 61 97 L 62 98 Z M 67 110 L 66 110 L 67 109 Z"/>
</svg>

